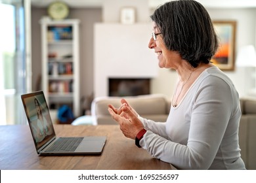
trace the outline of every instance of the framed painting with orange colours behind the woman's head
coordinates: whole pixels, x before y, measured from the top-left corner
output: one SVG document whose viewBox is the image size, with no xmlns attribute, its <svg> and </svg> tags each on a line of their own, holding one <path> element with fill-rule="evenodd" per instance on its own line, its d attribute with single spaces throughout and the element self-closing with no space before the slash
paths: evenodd
<svg viewBox="0 0 256 183">
<path fill-rule="evenodd" d="M 234 71 L 236 21 L 213 21 L 213 25 L 220 44 L 211 62 L 223 71 Z"/>
</svg>

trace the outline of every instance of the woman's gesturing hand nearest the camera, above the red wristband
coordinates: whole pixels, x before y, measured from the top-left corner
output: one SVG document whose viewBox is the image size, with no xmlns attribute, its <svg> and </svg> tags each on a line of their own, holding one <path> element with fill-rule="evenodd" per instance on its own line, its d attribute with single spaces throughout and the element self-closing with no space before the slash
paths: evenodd
<svg viewBox="0 0 256 183">
<path fill-rule="evenodd" d="M 144 128 L 144 125 L 131 108 L 123 106 L 121 110 L 121 114 L 116 114 L 112 108 L 108 108 L 108 112 L 110 112 L 112 118 L 118 122 L 123 135 L 127 138 L 135 139 L 139 131 Z"/>
</svg>

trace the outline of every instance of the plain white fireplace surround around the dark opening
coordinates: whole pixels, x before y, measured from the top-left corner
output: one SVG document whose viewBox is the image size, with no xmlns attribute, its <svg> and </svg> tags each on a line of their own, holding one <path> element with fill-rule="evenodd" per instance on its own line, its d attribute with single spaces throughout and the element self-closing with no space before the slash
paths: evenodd
<svg viewBox="0 0 256 183">
<path fill-rule="evenodd" d="M 154 78 L 158 59 L 148 48 L 151 24 L 95 24 L 95 97 L 108 95 L 108 78 Z"/>
</svg>

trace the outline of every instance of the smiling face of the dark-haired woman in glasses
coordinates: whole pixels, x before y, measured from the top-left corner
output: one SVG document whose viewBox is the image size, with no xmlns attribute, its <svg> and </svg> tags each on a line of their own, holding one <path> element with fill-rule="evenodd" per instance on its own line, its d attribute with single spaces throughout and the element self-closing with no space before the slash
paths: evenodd
<svg viewBox="0 0 256 183">
<path fill-rule="evenodd" d="M 153 22 L 153 31 L 155 34 L 160 33 L 155 22 Z M 161 34 L 157 35 L 156 41 L 154 41 L 153 37 L 150 39 L 148 48 L 155 50 L 156 55 L 158 56 L 158 65 L 160 68 L 177 69 L 179 66 L 178 63 L 181 61 L 180 54 L 174 51 L 170 51 L 166 48 Z"/>
</svg>

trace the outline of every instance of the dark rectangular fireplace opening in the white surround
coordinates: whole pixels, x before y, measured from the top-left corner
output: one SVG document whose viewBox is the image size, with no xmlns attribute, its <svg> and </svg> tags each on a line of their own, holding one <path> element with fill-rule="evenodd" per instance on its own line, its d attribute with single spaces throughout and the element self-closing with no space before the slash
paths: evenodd
<svg viewBox="0 0 256 183">
<path fill-rule="evenodd" d="M 150 78 L 108 78 L 108 95 L 115 97 L 150 94 Z"/>
</svg>

